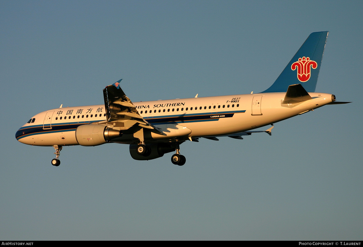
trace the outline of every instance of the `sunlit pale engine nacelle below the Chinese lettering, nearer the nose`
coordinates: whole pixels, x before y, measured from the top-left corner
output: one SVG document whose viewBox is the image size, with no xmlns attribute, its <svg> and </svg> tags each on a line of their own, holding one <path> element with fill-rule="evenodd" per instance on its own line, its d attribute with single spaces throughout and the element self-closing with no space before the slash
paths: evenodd
<svg viewBox="0 0 363 247">
<path fill-rule="evenodd" d="M 76 140 L 82 146 L 98 146 L 121 135 L 119 130 L 102 124 L 85 124 L 76 129 Z"/>
</svg>

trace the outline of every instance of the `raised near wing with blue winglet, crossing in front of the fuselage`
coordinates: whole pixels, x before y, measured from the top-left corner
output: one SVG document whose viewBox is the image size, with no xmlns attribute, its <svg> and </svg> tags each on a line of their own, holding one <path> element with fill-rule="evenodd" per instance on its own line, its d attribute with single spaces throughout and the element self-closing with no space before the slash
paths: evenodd
<svg viewBox="0 0 363 247">
<path fill-rule="evenodd" d="M 121 89 L 121 80 L 103 89 L 107 122 L 112 123 L 114 126 L 124 127 L 123 129 L 128 129 L 138 124 L 140 127 L 165 135 L 140 116 L 135 105 L 132 104 L 129 97 Z"/>
</svg>

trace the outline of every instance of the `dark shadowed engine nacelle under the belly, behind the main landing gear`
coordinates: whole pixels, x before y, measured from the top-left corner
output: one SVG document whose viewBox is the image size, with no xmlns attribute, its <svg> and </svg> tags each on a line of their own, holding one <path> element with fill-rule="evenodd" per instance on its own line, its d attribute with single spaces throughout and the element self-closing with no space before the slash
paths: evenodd
<svg viewBox="0 0 363 247">
<path fill-rule="evenodd" d="M 175 151 L 175 143 L 153 143 L 153 144 L 147 144 L 149 148 L 151 148 L 151 153 L 148 156 L 142 156 L 137 153 L 137 146 L 131 144 L 130 145 L 130 154 L 132 159 L 136 160 L 150 160 L 150 159 L 156 159 L 159 157 L 162 157 L 164 154 L 168 152 Z"/>
</svg>

